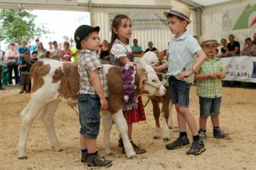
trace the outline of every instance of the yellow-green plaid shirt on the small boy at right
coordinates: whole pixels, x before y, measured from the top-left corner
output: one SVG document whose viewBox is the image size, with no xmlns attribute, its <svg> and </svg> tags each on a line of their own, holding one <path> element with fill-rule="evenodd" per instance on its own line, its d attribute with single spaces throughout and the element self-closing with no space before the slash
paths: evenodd
<svg viewBox="0 0 256 170">
<path fill-rule="evenodd" d="M 213 60 L 206 60 L 197 74 L 215 72 L 227 73 L 227 69 L 218 57 L 213 57 Z M 218 98 L 222 96 L 222 82 L 220 79 L 196 80 L 196 93 L 204 98 Z"/>
</svg>

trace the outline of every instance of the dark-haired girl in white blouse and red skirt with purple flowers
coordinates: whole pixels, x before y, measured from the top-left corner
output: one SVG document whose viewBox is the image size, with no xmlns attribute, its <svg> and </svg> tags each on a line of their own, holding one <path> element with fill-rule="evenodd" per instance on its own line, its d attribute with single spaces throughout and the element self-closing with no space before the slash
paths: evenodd
<svg viewBox="0 0 256 170">
<path fill-rule="evenodd" d="M 110 62 L 111 64 L 122 67 L 124 80 L 124 103 L 122 106 L 122 111 L 124 117 L 127 120 L 128 125 L 128 137 L 132 146 L 134 147 L 134 152 L 136 154 L 143 154 L 146 152 L 144 149 L 140 149 L 132 141 L 132 123 L 137 123 L 142 120 L 146 120 L 142 97 L 139 98 L 135 95 L 135 90 L 131 93 L 130 91 L 134 89 L 134 72 L 135 66 L 132 61 L 132 49 L 129 47 L 129 38 L 132 35 L 132 21 L 128 16 L 117 15 L 112 21 L 112 38 L 110 43 Z M 122 153 L 124 154 L 124 145 L 122 138 L 119 139 L 119 147 L 122 147 Z"/>
</svg>

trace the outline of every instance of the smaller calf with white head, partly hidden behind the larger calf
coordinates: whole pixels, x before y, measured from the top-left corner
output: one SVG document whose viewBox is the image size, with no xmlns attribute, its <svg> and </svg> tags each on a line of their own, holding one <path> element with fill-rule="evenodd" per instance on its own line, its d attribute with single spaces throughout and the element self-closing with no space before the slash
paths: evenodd
<svg viewBox="0 0 256 170">
<path fill-rule="evenodd" d="M 164 60 L 168 60 L 166 58 L 166 50 L 154 53 L 154 52 L 146 52 L 142 59 L 140 60 L 140 64 L 142 67 L 145 67 L 146 65 L 156 66 L 158 64 L 161 64 L 159 62 L 162 62 Z M 158 75 L 160 81 L 162 81 L 163 76 Z M 156 128 L 154 132 L 154 139 L 159 139 L 161 137 L 161 128 L 159 123 L 160 113 L 163 113 L 164 118 L 164 135 L 163 140 L 169 141 L 170 140 L 170 130 L 169 128 L 172 127 L 173 119 L 171 116 L 171 108 L 173 104 L 171 103 L 171 94 L 170 91 L 167 90 L 166 94 L 164 96 L 150 96 L 150 100 L 153 105 L 153 113 L 154 118 L 156 120 Z M 162 103 L 161 110 L 160 110 L 160 103 Z"/>
</svg>

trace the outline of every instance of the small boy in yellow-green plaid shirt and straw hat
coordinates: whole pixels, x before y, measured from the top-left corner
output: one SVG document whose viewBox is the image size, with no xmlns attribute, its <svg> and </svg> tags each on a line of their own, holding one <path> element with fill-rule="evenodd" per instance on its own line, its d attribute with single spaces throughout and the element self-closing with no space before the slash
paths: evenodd
<svg viewBox="0 0 256 170">
<path fill-rule="evenodd" d="M 206 140 L 206 123 L 210 115 L 213 123 L 213 137 L 217 139 L 228 138 L 228 134 L 220 129 L 219 118 L 222 96 L 222 79 L 225 79 L 227 69 L 221 60 L 216 57 L 215 51 L 220 43 L 213 35 L 202 35 L 200 45 L 206 52 L 207 60 L 196 73 L 196 93 L 199 96 L 200 118 L 199 136 Z"/>
</svg>

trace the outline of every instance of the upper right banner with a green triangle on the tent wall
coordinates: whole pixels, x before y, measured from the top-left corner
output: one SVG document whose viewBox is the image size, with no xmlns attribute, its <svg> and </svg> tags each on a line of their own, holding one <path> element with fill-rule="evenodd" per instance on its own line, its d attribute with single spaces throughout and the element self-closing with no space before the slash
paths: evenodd
<svg viewBox="0 0 256 170">
<path fill-rule="evenodd" d="M 239 30 L 256 26 L 256 3 L 239 4 L 222 11 L 223 31 Z"/>
</svg>

